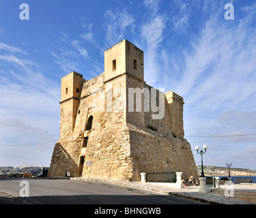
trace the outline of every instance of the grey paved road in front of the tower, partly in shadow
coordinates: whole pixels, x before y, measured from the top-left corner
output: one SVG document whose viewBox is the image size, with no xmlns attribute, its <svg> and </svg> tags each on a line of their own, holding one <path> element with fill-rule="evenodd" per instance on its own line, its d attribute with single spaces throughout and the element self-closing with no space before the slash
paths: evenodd
<svg viewBox="0 0 256 218">
<path fill-rule="evenodd" d="M 29 197 L 20 198 L 20 189 L 25 188 L 21 181 L 28 181 Z M 3 178 L 0 191 L 18 197 L 0 197 L 0 204 L 200 204 L 131 187 L 67 179 Z"/>
</svg>

